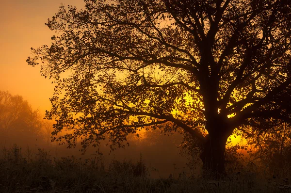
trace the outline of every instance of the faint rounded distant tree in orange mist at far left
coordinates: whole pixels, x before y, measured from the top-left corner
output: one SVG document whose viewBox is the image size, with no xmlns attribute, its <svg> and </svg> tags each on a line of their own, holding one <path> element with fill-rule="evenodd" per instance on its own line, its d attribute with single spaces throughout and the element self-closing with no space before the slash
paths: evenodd
<svg viewBox="0 0 291 193">
<path fill-rule="evenodd" d="M 17 143 L 41 138 L 42 118 L 22 96 L 0 91 L 0 132 L 1 141 Z"/>
</svg>

